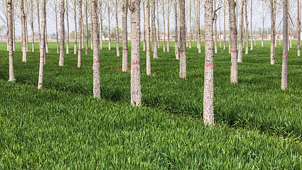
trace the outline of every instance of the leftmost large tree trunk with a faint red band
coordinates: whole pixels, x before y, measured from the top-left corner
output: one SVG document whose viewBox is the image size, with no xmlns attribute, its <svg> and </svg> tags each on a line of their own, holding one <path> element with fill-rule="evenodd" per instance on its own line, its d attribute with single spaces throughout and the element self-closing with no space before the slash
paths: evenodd
<svg viewBox="0 0 302 170">
<path fill-rule="evenodd" d="M 14 50 L 13 50 L 13 0 L 7 1 L 7 20 L 8 20 L 8 58 L 9 58 L 9 79 L 15 81 L 14 76 Z"/>
</svg>

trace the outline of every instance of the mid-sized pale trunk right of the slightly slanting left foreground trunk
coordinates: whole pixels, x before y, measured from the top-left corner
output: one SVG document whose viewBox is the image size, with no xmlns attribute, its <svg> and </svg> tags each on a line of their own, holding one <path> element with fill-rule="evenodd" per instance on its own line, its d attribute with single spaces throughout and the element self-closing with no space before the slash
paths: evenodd
<svg viewBox="0 0 302 170">
<path fill-rule="evenodd" d="M 64 22 L 64 13 L 65 13 L 65 4 L 64 0 L 61 0 L 61 13 L 60 13 L 60 21 L 61 21 L 61 43 L 60 43 L 60 61 L 59 66 L 64 66 L 64 50 L 65 50 L 65 22 Z"/>
</svg>

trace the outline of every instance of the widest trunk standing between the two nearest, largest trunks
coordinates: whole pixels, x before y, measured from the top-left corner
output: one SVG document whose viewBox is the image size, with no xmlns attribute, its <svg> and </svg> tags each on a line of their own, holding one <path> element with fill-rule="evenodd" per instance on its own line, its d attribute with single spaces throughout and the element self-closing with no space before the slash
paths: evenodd
<svg viewBox="0 0 302 170">
<path fill-rule="evenodd" d="M 179 0 L 180 8 L 180 60 L 179 77 L 186 78 L 186 50 L 185 50 L 185 0 Z"/>
</svg>

